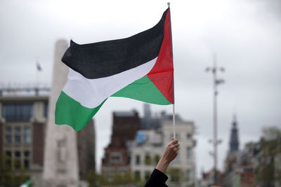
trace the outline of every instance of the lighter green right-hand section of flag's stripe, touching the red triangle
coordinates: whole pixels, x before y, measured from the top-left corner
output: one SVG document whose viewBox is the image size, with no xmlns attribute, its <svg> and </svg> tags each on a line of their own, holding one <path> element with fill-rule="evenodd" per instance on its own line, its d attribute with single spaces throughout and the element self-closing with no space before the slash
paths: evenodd
<svg viewBox="0 0 281 187">
<path fill-rule="evenodd" d="M 167 105 L 171 102 L 162 95 L 150 78 L 144 76 L 116 92 L 112 97 L 129 97 L 142 102 Z"/>
</svg>

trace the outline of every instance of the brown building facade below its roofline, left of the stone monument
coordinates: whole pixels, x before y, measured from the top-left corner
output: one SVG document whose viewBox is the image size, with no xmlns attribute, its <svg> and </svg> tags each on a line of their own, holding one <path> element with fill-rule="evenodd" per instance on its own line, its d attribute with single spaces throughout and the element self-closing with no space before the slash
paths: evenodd
<svg viewBox="0 0 281 187">
<path fill-rule="evenodd" d="M 0 97 L 0 153 L 12 170 L 41 171 L 48 97 Z"/>
</svg>

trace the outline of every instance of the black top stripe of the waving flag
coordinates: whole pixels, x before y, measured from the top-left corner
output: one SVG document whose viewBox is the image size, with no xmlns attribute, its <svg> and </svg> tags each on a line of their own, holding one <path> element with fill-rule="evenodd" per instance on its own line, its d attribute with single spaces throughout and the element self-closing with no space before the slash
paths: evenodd
<svg viewBox="0 0 281 187">
<path fill-rule="evenodd" d="M 70 41 L 62 61 L 86 78 L 112 76 L 149 62 L 159 54 L 166 12 L 155 27 L 126 39 L 84 45 Z"/>
</svg>

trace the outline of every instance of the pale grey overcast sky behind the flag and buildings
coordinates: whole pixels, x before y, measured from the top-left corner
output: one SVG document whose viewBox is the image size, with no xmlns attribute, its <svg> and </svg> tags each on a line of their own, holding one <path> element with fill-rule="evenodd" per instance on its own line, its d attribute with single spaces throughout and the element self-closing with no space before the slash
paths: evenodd
<svg viewBox="0 0 281 187">
<path fill-rule="evenodd" d="M 39 81 L 51 85 L 57 39 L 92 43 L 122 39 L 153 27 L 166 1 L 0 0 L 0 86 Z M 176 113 L 197 126 L 197 171 L 213 166 L 212 77 L 204 69 L 212 54 L 226 72 L 218 95 L 218 166 L 228 151 L 230 123 L 237 113 L 240 148 L 257 141 L 261 128 L 281 126 L 281 1 L 171 1 Z M 43 71 L 36 71 L 36 62 Z M 152 111 L 171 106 L 151 106 Z M 97 162 L 110 141 L 112 111 L 143 103 L 110 98 L 95 118 Z"/>
</svg>

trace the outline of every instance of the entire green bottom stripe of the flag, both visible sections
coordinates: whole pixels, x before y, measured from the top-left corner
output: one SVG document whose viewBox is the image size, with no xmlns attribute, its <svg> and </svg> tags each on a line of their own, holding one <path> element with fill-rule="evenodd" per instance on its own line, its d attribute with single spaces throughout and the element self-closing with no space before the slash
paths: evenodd
<svg viewBox="0 0 281 187">
<path fill-rule="evenodd" d="M 128 97 L 152 104 L 171 104 L 148 76 L 127 85 L 112 97 Z M 55 124 L 70 125 L 74 130 L 79 131 L 93 118 L 105 101 L 106 99 L 96 108 L 90 109 L 62 91 L 55 104 Z"/>
</svg>

